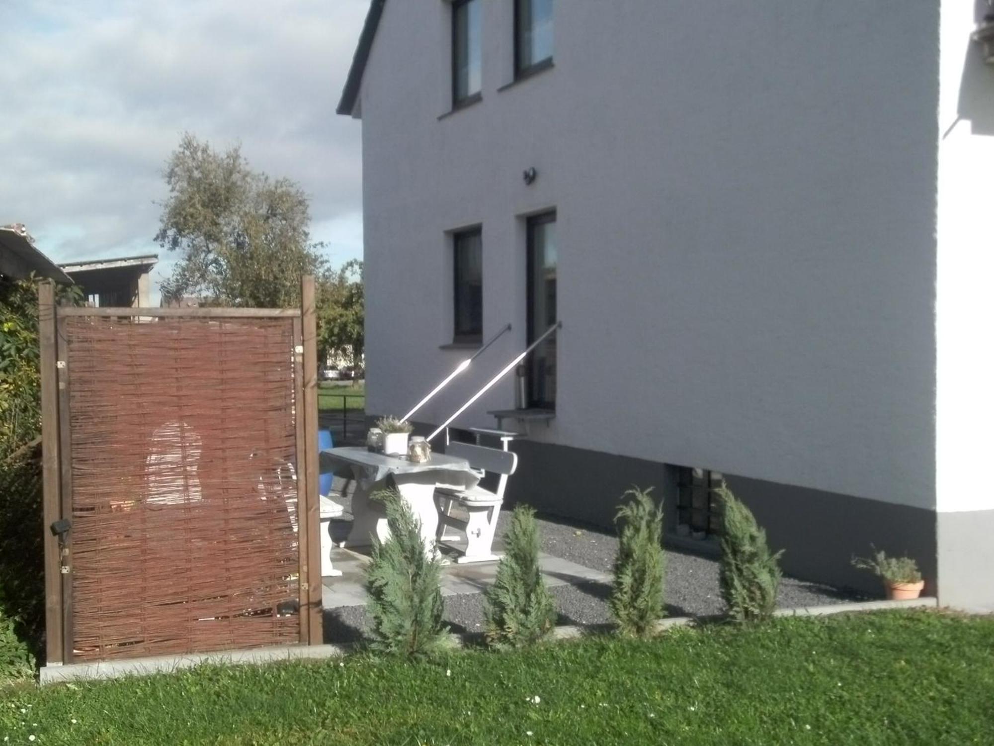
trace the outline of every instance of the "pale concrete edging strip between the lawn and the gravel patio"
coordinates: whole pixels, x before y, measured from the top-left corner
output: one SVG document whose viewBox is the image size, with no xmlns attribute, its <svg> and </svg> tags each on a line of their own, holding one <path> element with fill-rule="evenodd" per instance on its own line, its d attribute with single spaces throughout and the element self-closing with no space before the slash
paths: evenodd
<svg viewBox="0 0 994 746">
<path fill-rule="evenodd" d="M 827 617 L 833 614 L 855 612 L 877 612 L 889 609 L 935 609 L 938 601 L 932 597 L 912 601 L 859 601 L 828 606 L 798 607 L 778 609 L 777 617 Z M 676 627 L 689 627 L 705 621 L 717 621 L 722 617 L 670 617 L 657 623 L 657 632 Z M 577 640 L 594 628 L 577 625 L 563 625 L 553 630 L 553 640 Z M 479 635 L 453 636 L 456 646 L 469 647 L 478 643 Z M 39 671 L 39 683 L 46 685 L 62 681 L 119 678 L 122 676 L 146 676 L 153 673 L 170 673 L 183 668 L 193 668 L 205 663 L 215 665 L 241 665 L 246 663 L 273 663 L 281 660 L 322 660 L 341 657 L 361 648 L 360 645 L 316 645 L 285 646 L 279 648 L 255 648 L 244 651 L 223 651 L 220 653 L 192 653 L 188 655 L 160 655 L 157 657 L 135 658 L 133 660 L 106 660 L 96 663 L 70 663 L 68 665 L 45 665 Z"/>
</svg>

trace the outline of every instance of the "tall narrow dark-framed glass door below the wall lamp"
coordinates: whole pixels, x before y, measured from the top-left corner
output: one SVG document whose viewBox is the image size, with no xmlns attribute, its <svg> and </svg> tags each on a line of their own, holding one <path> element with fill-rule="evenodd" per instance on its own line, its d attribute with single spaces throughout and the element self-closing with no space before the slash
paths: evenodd
<svg viewBox="0 0 994 746">
<path fill-rule="evenodd" d="M 553 326 L 556 311 L 556 213 L 528 219 L 528 343 Z M 556 409 L 556 335 L 532 352 L 528 365 L 528 406 Z"/>
</svg>

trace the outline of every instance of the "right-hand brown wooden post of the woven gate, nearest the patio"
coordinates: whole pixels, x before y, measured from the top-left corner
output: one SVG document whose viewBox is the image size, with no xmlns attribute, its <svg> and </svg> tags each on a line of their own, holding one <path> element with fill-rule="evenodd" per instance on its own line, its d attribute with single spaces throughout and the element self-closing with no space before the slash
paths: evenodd
<svg viewBox="0 0 994 746">
<path fill-rule="evenodd" d="M 324 609 L 321 602 L 321 515 L 318 497 L 317 446 L 317 316 L 314 308 L 314 278 L 305 275 L 300 280 L 300 316 L 303 331 L 303 422 L 304 422 L 304 493 L 302 510 L 307 518 L 301 522 L 299 547 L 306 552 L 307 604 L 301 614 L 309 617 L 307 630 L 310 645 L 324 642 Z M 299 477 L 298 477 L 299 478 Z"/>
</svg>

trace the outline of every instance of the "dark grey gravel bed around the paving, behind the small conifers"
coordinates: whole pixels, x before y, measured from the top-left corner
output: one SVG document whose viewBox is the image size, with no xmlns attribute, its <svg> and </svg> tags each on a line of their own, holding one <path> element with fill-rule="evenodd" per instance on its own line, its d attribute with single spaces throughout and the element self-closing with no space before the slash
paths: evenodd
<svg viewBox="0 0 994 746">
<path fill-rule="evenodd" d="M 335 499 L 350 508 L 348 497 Z M 510 513 L 504 511 L 497 525 L 498 540 L 507 529 Z M 617 538 L 600 529 L 539 516 L 542 550 L 547 554 L 600 572 L 610 573 L 617 551 Z M 610 623 L 605 583 L 583 583 L 550 589 L 556 598 L 559 624 L 600 626 Z M 721 614 L 723 603 L 718 584 L 718 561 L 675 549 L 666 552 L 666 616 L 706 617 Z M 850 592 L 784 577 L 780 583 L 780 608 L 822 606 L 859 600 Z M 445 621 L 453 632 L 481 633 L 483 596 L 470 594 L 445 598 Z M 363 638 L 370 620 L 362 606 L 325 612 L 325 638 L 329 642 L 355 642 Z"/>
</svg>

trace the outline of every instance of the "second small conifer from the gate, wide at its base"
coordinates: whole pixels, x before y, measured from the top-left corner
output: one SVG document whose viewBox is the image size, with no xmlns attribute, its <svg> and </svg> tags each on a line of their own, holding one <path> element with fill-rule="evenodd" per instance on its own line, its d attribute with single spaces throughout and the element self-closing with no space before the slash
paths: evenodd
<svg viewBox="0 0 994 746">
<path fill-rule="evenodd" d="M 556 605 L 539 567 L 535 510 L 514 509 L 504 542 L 497 578 L 484 593 L 486 638 L 497 648 L 521 648 L 546 638 L 556 624 Z"/>
</svg>

